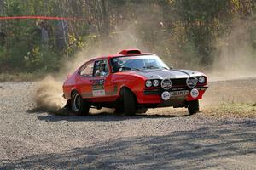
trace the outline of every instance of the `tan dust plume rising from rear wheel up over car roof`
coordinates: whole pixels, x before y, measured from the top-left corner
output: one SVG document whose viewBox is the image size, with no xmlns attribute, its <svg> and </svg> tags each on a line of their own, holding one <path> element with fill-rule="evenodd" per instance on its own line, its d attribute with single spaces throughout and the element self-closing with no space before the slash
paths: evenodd
<svg viewBox="0 0 256 170">
<path fill-rule="evenodd" d="M 80 50 L 73 59 L 67 59 L 63 62 L 61 71 L 55 75 L 49 75 L 38 82 L 38 88 L 35 93 L 35 101 L 38 108 L 62 114 L 63 110 L 61 108 L 66 105 L 66 99 L 62 97 L 61 85 L 69 74 L 73 74 L 88 59 L 103 56 L 104 54 L 117 54 L 124 48 L 143 49 L 142 43 L 135 38 L 136 36 L 134 35 L 136 33 L 131 30 L 131 27 L 127 27 L 125 31 L 119 34 L 111 35 L 104 41 L 91 42 Z"/>
</svg>

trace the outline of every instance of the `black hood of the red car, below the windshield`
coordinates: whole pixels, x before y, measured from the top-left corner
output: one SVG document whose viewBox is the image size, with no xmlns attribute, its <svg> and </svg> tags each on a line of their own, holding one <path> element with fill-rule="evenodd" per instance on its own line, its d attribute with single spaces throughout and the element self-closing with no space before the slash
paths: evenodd
<svg viewBox="0 0 256 170">
<path fill-rule="evenodd" d="M 203 73 L 198 71 L 176 70 L 176 69 L 136 71 L 135 74 L 146 77 L 148 79 L 188 78 L 188 77 L 205 76 Z"/>
</svg>

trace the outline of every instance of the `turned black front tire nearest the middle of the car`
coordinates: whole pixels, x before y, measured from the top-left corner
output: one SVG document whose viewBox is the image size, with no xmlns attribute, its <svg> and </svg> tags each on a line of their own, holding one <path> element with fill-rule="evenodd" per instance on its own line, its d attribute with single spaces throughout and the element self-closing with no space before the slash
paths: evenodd
<svg viewBox="0 0 256 170">
<path fill-rule="evenodd" d="M 136 114 L 136 98 L 131 90 L 124 88 L 122 91 L 122 100 L 124 102 L 124 112 L 127 116 Z"/>
</svg>

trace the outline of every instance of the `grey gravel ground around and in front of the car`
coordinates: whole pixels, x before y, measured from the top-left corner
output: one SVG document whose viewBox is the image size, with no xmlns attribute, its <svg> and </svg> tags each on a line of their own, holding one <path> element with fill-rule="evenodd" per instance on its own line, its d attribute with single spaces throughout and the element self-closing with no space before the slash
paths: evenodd
<svg viewBox="0 0 256 170">
<path fill-rule="evenodd" d="M 0 82 L 0 169 L 256 169 L 256 118 L 204 115 L 256 102 L 256 79 L 211 82 L 201 113 L 55 116 L 32 98 L 37 82 Z"/>
</svg>

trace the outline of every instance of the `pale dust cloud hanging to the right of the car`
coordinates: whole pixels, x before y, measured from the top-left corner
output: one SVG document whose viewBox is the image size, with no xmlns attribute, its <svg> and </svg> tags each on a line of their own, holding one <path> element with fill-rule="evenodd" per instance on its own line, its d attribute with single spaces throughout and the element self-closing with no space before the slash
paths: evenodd
<svg viewBox="0 0 256 170">
<path fill-rule="evenodd" d="M 251 21 L 240 20 L 228 36 L 216 43 L 219 54 L 215 56 L 212 70 L 208 71 L 210 80 L 256 77 L 256 56 L 250 34 L 253 25 Z"/>
</svg>

